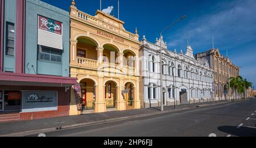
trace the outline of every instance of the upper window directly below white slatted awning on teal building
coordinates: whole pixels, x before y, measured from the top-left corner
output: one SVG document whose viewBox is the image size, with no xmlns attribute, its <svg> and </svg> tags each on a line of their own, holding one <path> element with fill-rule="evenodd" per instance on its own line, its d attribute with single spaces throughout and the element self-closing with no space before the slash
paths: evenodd
<svg viewBox="0 0 256 148">
<path fill-rule="evenodd" d="M 39 45 L 39 60 L 62 62 L 62 50 Z"/>
</svg>

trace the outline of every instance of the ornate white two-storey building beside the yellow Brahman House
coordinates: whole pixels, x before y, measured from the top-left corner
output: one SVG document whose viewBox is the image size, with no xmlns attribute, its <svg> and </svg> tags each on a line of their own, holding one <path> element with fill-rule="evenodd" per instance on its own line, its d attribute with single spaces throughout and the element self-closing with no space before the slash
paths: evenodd
<svg viewBox="0 0 256 148">
<path fill-rule="evenodd" d="M 163 58 L 160 60 L 160 46 Z M 199 103 L 214 100 L 213 70 L 207 61 L 196 60 L 191 46 L 180 54 L 167 49 L 163 38 L 155 44 L 145 37 L 139 50 L 141 57 L 141 100 L 143 107 L 160 105 L 160 93 L 163 93 L 163 105 Z M 162 62 L 162 71 L 160 71 Z M 160 92 L 160 73 L 163 74 L 163 92 Z"/>
</svg>

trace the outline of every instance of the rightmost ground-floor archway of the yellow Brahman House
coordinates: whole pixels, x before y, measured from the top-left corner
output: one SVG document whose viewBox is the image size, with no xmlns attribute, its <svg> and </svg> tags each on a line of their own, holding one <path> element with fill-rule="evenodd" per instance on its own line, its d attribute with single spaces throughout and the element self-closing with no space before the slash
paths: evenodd
<svg viewBox="0 0 256 148">
<path fill-rule="evenodd" d="M 128 93 L 125 94 L 126 109 L 133 109 L 134 108 L 134 84 L 131 82 L 127 82 L 125 84 L 125 90 L 128 91 Z"/>
</svg>

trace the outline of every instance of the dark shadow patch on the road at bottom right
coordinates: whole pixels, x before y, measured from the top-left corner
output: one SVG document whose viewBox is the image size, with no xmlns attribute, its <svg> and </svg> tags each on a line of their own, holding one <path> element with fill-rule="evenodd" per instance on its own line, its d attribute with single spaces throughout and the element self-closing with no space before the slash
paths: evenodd
<svg viewBox="0 0 256 148">
<path fill-rule="evenodd" d="M 255 137 L 256 136 L 256 129 L 255 128 L 248 128 L 245 126 L 241 126 L 237 128 L 237 126 L 220 126 L 218 130 L 221 132 L 231 134 L 232 136 L 238 137 Z"/>
</svg>

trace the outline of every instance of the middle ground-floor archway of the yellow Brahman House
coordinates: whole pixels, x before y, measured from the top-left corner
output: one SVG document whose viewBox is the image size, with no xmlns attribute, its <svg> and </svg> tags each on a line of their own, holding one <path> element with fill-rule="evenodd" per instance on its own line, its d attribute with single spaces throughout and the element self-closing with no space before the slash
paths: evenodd
<svg viewBox="0 0 256 148">
<path fill-rule="evenodd" d="M 104 97 L 106 108 L 115 108 L 115 102 L 117 100 L 117 84 L 114 81 L 108 81 L 105 83 Z"/>
</svg>

